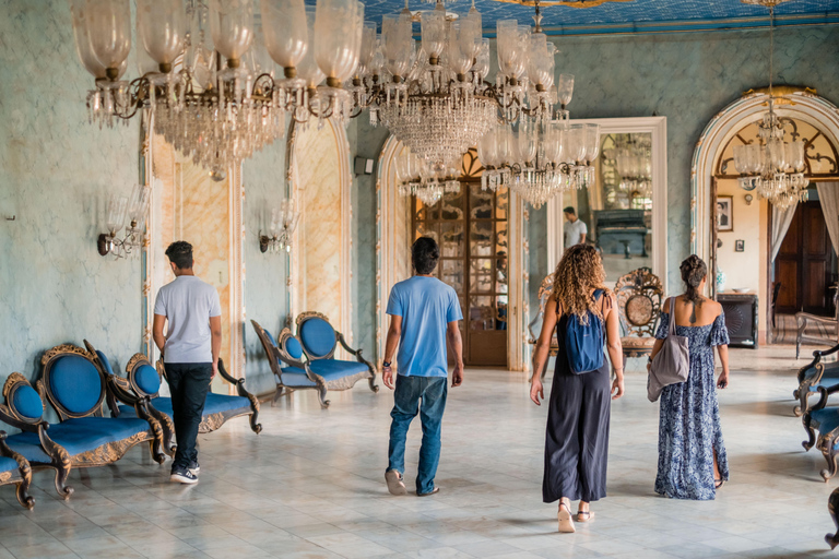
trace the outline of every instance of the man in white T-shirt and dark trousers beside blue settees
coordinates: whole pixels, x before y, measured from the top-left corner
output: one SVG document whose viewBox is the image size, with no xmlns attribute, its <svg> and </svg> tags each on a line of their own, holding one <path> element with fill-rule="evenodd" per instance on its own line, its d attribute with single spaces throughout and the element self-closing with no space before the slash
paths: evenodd
<svg viewBox="0 0 839 559">
<path fill-rule="evenodd" d="M 178 441 L 170 479 L 197 484 L 196 439 L 210 382 L 218 372 L 222 306 L 215 287 L 196 277 L 192 271 L 192 245 L 184 240 L 173 242 L 166 255 L 175 280 L 157 292 L 153 336 L 166 367 Z"/>
</svg>

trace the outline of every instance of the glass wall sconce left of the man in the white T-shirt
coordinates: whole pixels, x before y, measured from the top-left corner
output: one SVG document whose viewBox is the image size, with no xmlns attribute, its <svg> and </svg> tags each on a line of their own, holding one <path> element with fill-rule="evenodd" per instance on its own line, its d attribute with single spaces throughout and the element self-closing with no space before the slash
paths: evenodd
<svg viewBox="0 0 839 559">
<path fill-rule="evenodd" d="M 143 227 L 145 216 L 149 212 L 149 199 L 151 188 L 135 185 L 131 191 L 131 197 L 114 192 L 108 201 L 108 216 L 105 226 L 108 233 L 103 233 L 96 239 L 96 248 L 103 257 L 114 254 L 116 259 L 128 258 L 132 253 L 137 254 L 143 246 Z M 119 238 L 119 231 L 128 217 L 129 224 L 126 226 L 126 235 Z"/>
</svg>

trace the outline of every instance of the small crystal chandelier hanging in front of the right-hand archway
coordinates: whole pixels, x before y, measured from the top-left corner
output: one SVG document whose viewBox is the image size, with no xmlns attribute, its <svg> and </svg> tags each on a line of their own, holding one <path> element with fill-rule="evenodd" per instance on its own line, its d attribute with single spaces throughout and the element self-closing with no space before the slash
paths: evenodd
<svg viewBox="0 0 839 559">
<path fill-rule="evenodd" d="M 759 143 L 734 146 L 734 166 L 740 173 L 737 179 L 743 190 L 757 190 L 780 210 L 785 210 L 807 200 L 808 180 L 804 170 L 804 142 L 784 141 L 783 122 L 775 114 L 772 96 L 773 47 L 775 47 L 775 5 L 779 1 L 765 0 L 760 3 L 769 7 L 769 111 L 758 123 Z"/>
</svg>

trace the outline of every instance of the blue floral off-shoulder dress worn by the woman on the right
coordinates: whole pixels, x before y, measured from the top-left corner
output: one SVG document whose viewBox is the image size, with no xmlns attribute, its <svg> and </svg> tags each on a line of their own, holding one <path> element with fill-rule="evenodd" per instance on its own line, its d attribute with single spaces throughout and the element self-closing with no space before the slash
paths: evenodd
<svg viewBox="0 0 839 559">
<path fill-rule="evenodd" d="M 655 337 L 667 337 L 670 314 L 661 313 Z M 729 479 L 720 406 L 713 380 L 713 347 L 729 344 L 723 314 L 705 326 L 676 325 L 690 355 L 687 381 L 664 386 L 659 411 L 659 473 L 655 492 L 676 499 L 714 498 L 713 453 L 720 477 Z"/>
</svg>

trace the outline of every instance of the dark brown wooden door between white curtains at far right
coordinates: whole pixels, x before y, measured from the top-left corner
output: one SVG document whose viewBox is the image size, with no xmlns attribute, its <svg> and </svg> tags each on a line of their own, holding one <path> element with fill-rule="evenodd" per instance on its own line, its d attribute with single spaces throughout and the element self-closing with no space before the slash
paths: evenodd
<svg viewBox="0 0 839 559">
<path fill-rule="evenodd" d="M 832 314 L 828 292 L 836 255 L 819 202 L 799 204 L 775 260 L 779 313 Z"/>
</svg>

